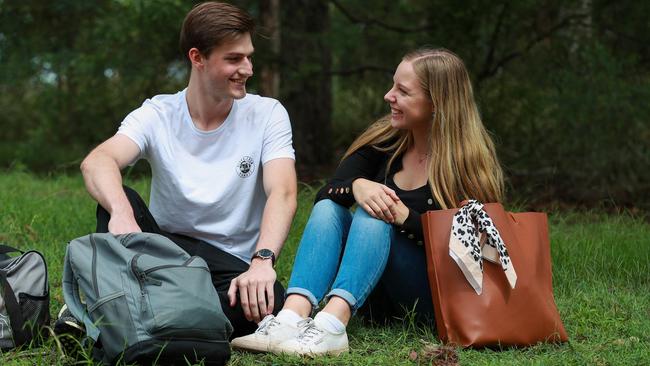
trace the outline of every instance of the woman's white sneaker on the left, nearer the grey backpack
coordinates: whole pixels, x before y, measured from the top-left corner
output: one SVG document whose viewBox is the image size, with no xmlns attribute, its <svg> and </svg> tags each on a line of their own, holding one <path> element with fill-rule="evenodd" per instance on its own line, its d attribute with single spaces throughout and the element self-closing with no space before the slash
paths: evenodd
<svg viewBox="0 0 650 366">
<path fill-rule="evenodd" d="M 235 338 L 230 345 L 247 351 L 271 352 L 274 345 L 294 338 L 298 333 L 297 325 L 282 323 L 275 316 L 267 315 L 258 324 L 255 333 Z"/>
</svg>

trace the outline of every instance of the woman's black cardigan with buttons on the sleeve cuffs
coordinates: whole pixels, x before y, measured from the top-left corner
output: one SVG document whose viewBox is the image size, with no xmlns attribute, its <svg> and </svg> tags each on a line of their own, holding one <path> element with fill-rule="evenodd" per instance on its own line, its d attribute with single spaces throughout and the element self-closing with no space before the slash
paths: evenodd
<svg viewBox="0 0 650 366">
<path fill-rule="evenodd" d="M 391 164 L 390 171 L 386 174 L 390 157 L 391 153 L 379 151 L 369 145 L 355 151 L 339 164 L 334 177 L 318 191 L 316 202 L 327 198 L 349 208 L 355 203 L 352 194 L 352 182 L 355 179 L 365 178 L 385 184 L 393 189 L 409 208 L 409 215 L 404 224 L 401 227 L 396 225 L 399 227 L 399 233 L 406 235 L 406 237 L 418 244 L 422 244 L 424 234 L 420 215 L 427 210 L 438 210 L 440 205 L 431 195 L 428 184 L 411 191 L 399 189 L 392 178 L 396 172 L 402 169 L 402 159 L 401 156 L 398 156 Z"/>
</svg>

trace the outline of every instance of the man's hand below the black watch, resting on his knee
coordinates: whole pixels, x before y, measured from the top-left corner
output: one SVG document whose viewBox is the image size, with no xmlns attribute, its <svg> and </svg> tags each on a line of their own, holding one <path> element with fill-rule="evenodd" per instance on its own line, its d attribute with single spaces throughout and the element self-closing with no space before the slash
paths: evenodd
<svg viewBox="0 0 650 366">
<path fill-rule="evenodd" d="M 259 323 L 262 318 L 273 312 L 275 303 L 273 286 L 276 277 L 271 260 L 253 258 L 248 271 L 230 281 L 228 289 L 230 306 L 237 304 L 237 293 L 239 293 L 246 320 Z"/>
</svg>

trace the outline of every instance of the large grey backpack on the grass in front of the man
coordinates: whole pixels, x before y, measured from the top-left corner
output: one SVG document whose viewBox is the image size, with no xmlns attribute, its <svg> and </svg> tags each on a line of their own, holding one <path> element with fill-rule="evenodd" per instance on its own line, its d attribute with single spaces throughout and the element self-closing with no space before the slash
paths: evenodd
<svg viewBox="0 0 650 366">
<path fill-rule="evenodd" d="M 71 241 L 63 297 L 105 363 L 220 365 L 230 358 L 232 326 L 207 264 L 162 235 Z"/>
</svg>

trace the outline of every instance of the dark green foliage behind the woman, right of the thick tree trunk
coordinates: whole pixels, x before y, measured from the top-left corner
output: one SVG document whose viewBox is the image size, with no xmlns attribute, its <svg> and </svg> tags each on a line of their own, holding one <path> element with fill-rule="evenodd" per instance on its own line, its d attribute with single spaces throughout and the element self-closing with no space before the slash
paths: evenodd
<svg viewBox="0 0 650 366">
<path fill-rule="evenodd" d="M 650 29 L 639 15 L 647 19 L 647 4 L 332 3 L 332 29 L 340 34 L 332 37 L 342 40 L 333 124 L 342 146 L 387 112 L 382 96 L 400 55 L 424 44 L 445 47 L 472 74 L 510 198 L 650 208 L 643 102 L 650 97 Z"/>
</svg>

